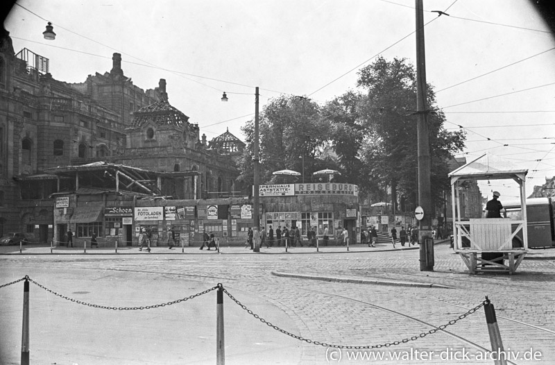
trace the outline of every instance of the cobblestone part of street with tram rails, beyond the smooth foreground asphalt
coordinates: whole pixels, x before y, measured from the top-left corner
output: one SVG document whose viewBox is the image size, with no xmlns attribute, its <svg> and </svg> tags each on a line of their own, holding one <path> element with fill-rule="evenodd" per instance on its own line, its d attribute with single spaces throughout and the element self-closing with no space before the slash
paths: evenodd
<svg viewBox="0 0 555 365">
<path fill-rule="evenodd" d="M 253 364 L 325 364 L 338 362 L 339 356 L 345 364 L 492 364 L 490 359 L 479 358 L 490 348 L 483 308 L 444 331 L 419 336 L 457 319 L 487 295 L 495 305 L 504 348 L 517 356 L 509 364 L 555 364 L 555 251 L 532 251 L 514 275 L 470 275 L 461 258 L 447 244 L 436 246 L 433 272 L 419 271 L 418 250 L 368 252 L 359 249 L 350 253 L 310 255 L 298 254 L 303 252 L 301 248 L 293 254 L 273 251 L 270 255 L 228 251 L 222 255 L 2 255 L 0 284 L 14 280 L 15 276 L 10 273 L 26 269 L 40 269 L 43 273 L 63 270 L 67 275 L 72 270 L 101 271 L 124 278 L 155 278 L 170 285 L 175 282 L 176 287 L 183 280 L 192 280 L 205 289 L 221 282 L 238 300 L 255 296 L 267 303 L 253 308 L 265 321 L 284 327 L 282 315 L 285 314 L 291 320 L 286 324 L 293 328 L 283 329 L 303 339 L 341 346 L 400 342 L 373 349 L 373 353 L 339 351 L 288 338 L 257 323 L 247 312 L 235 311 L 234 316 L 240 318 L 240 323 L 258 325 L 260 332 L 257 333 L 278 341 L 282 354 L 300 349 L 295 359 L 281 358 L 274 353 L 274 357 L 264 361 L 257 358 Z M 432 283 L 450 289 L 287 278 L 273 275 L 276 271 L 319 275 L 330 280 L 371 278 Z M 32 273 L 28 275 L 32 277 Z M 48 277 L 48 274 L 42 275 Z M 122 281 L 110 281 L 110 285 L 125 285 L 125 280 Z M 176 295 L 179 297 L 180 293 Z M 226 308 L 233 305 L 227 297 L 224 302 Z M 226 327 L 226 331 L 241 331 L 241 326 Z M 257 336 L 252 339 L 252 346 L 260 342 L 261 337 Z M 411 337 L 418 339 L 402 342 Z M 534 354 L 540 360 L 529 359 Z M 362 356 L 368 357 L 362 359 Z M 393 356 L 400 358 L 392 359 Z M 244 360 L 242 363 L 248 364 Z"/>
</svg>

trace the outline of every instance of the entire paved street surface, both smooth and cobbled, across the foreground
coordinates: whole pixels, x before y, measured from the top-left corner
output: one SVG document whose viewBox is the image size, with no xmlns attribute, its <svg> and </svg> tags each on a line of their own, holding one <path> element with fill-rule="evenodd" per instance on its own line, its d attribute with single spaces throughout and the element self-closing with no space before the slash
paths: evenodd
<svg viewBox="0 0 555 365">
<path fill-rule="evenodd" d="M 86 255 L 76 250 L 50 254 L 49 248 L 31 247 L 19 254 L 19 248 L 10 248 L 0 251 L 0 284 L 29 275 L 69 298 L 140 307 L 187 298 L 221 282 L 266 321 L 305 339 L 343 346 L 410 339 L 457 319 L 488 295 L 505 349 L 519 352 L 513 364 L 555 364 L 555 251 L 533 251 L 515 275 L 469 275 L 447 244 L 436 246 L 434 272 L 419 271 L 417 250 L 391 248 L 370 251 L 359 245 L 348 253 L 345 248 L 323 248 L 323 253 L 270 248 L 263 254 L 233 247 L 222 248 L 221 254 L 186 248 L 181 255 L 136 249 L 114 255 L 104 248 Z M 345 278 L 378 284 L 338 281 Z M 0 316 L 0 362 L 18 364 L 22 283 L 0 291 L 5 311 Z M 185 303 L 136 311 L 80 305 L 33 284 L 31 298 L 32 364 L 215 363 L 214 291 Z M 493 363 L 477 359 L 490 348 L 482 309 L 416 341 L 374 353 L 339 353 L 260 323 L 227 296 L 224 303 L 227 364 L 325 364 L 337 362 L 340 355 L 345 364 Z M 538 352 L 541 361 L 523 359 L 527 350 Z M 459 361 L 463 351 L 469 354 Z M 395 355 L 400 359 L 391 359 Z M 370 362 L 361 356 L 384 359 Z"/>
</svg>

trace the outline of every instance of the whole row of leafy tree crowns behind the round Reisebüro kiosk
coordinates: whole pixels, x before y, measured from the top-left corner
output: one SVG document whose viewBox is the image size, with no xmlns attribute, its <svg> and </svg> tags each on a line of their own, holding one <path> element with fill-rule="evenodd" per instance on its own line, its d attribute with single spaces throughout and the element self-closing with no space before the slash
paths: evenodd
<svg viewBox="0 0 555 365">
<path fill-rule="evenodd" d="M 273 171 L 293 169 L 305 181 L 318 169 L 336 169 L 337 181 L 359 185 L 361 197 L 412 210 L 418 201 L 416 71 L 406 59 L 378 57 L 359 70 L 357 90 L 324 105 L 303 96 L 280 96 L 264 106 L 259 119 L 260 182 L 278 182 Z M 462 131 L 445 130 L 445 115 L 436 105 L 431 85 L 427 123 L 432 192 L 436 205 L 448 187 L 447 160 L 461 151 Z M 254 122 L 242 128 L 253 140 Z M 253 181 L 253 144 L 239 163 L 240 180 Z M 304 169 L 302 161 L 304 160 Z M 434 197 L 433 197 L 434 198 Z"/>
</svg>

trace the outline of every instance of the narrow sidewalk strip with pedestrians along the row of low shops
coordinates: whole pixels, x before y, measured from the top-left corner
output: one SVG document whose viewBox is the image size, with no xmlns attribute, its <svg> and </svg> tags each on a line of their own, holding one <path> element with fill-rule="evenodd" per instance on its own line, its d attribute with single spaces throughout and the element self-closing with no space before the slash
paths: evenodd
<svg viewBox="0 0 555 365">
<path fill-rule="evenodd" d="M 436 241 L 435 244 L 441 244 L 448 240 Z M 271 248 L 261 247 L 260 254 L 295 254 L 295 253 L 361 253 L 361 252 L 382 252 L 382 251 L 408 251 L 408 250 L 418 250 L 419 246 L 401 246 L 401 244 L 395 244 L 393 248 L 392 244 L 377 244 L 376 247 L 368 247 L 366 244 L 355 244 L 347 246 L 319 246 L 318 251 L 316 247 L 288 247 L 287 252 L 283 246 L 274 246 Z M 217 254 L 214 248 L 208 251 L 206 248 L 199 250 L 198 247 L 194 246 L 174 246 L 169 249 L 168 246 L 152 246 L 151 253 L 148 253 L 143 249 L 139 251 L 138 246 L 123 246 L 118 247 L 117 252 L 115 246 L 110 247 L 99 247 L 90 248 L 87 246 L 76 246 L 73 248 L 65 246 L 51 246 L 47 245 L 37 245 L 28 244 L 21 247 L 19 246 L 0 246 L 0 255 L 213 255 Z M 225 255 L 254 255 L 252 250 L 245 248 L 244 246 L 220 246 L 220 254 Z"/>
</svg>

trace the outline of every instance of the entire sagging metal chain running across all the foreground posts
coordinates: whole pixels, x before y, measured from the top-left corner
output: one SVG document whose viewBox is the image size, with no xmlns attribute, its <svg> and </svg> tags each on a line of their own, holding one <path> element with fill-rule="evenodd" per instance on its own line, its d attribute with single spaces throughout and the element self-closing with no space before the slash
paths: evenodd
<svg viewBox="0 0 555 365">
<path fill-rule="evenodd" d="M 428 334 L 434 334 L 438 331 L 445 330 L 445 328 L 447 328 L 447 326 L 454 325 L 456 322 L 460 321 L 461 319 L 465 319 L 467 316 L 469 316 L 472 313 L 475 313 L 478 309 L 480 309 L 481 307 L 484 307 L 484 305 L 489 303 L 489 299 L 486 297 L 486 300 L 482 301 L 476 307 L 474 307 L 472 309 L 469 309 L 466 313 L 461 314 L 456 319 L 452 319 L 451 321 L 449 321 L 449 322 L 447 322 L 443 325 L 440 325 L 436 328 L 432 328 L 432 330 L 429 330 L 427 332 L 422 332 L 422 333 L 420 333 L 416 336 L 407 337 L 406 339 L 402 339 L 400 341 L 386 342 L 386 343 L 382 343 L 382 344 L 378 344 L 378 345 L 368 345 L 368 346 L 345 346 L 345 345 L 337 345 L 337 344 L 334 344 L 334 343 L 325 343 L 325 342 L 320 342 L 320 341 L 314 341 L 312 339 L 305 339 L 305 337 L 298 336 L 297 334 L 293 334 L 291 332 L 283 330 L 282 328 L 279 328 L 277 325 L 274 325 L 271 322 L 266 321 L 266 319 L 262 318 L 261 316 L 259 316 L 255 312 L 253 312 L 251 309 L 248 309 L 248 307 L 246 307 L 246 305 L 244 305 L 239 300 L 237 300 L 234 296 L 232 296 L 232 294 L 227 289 L 225 289 L 221 283 L 219 283 L 215 287 L 212 287 L 210 289 L 206 289 L 205 291 L 200 291 L 200 293 L 197 293 L 197 294 L 185 297 L 185 298 L 181 298 L 181 299 L 178 299 L 178 300 L 173 300 L 173 301 L 167 302 L 167 303 L 147 305 L 145 307 L 109 307 L 109 306 L 105 306 L 105 305 L 96 305 L 96 304 L 92 304 L 92 303 L 86 303 L 86 302 L 83 302 L 82 300 L 69 298 L 68 296 L 65 296 L 63 294 L 59 294 L 56 291 L 53 291 L 53 290 L 51 290 L 47 287 L 44 287 L 44 285 L 41 285 L 40 283 L 36 282 L 35 280 L 29 278 L 28 275 L 26 275 L 24 278 L 21 278 L 19 280 L 9 282 L 8 284 L 0 285 L 0 288 L 7 287 L 8 285 L 13 285 L 13 284 L 15 284 L 17 282 L 20 282 L 20 281 L 23 281 L 23 280 L 29 280 L 33 284 L 37 285 L 37 287 L 40 287 L 40 288 L 42 288 L 46 291 L 49 291 L 49 293 L 54 294 L 55 296 L 59 296 L 60 298 L 63 298 L 65 300 L 69 300 L 71 302 L 78 303 L 78 304 L 81 304 L 81 305 L 86 305 L 87 307 L 94 307 L 94 308 L 100 308 L 100 309 L 112 309 L 112 310 L 142 310 L 142 309 L 153 309 L 153 308 L 158 308 L 158 307 L 166 307 L 167 305 L 173 305 L 173 304 L 185 302 L 189 299 L 194 299 L 198 296 L 202 296 L 204 294 L 210 293 L 210 291 L 213 291 L 213 290 L 216 290 L 216 289 L 221 289 L 228 297 L 230 297 L 231 300 L 234 301 L 234 303 L 239 305 L 239 307 L 244 309 L 248 314 L 250 314 L 251 316 L 255 317 L 255 319 L 258 319 L 259 321 L 261 321 L 265 325 L 268 325 L 268 327 L 271 327 L 271 328 L 273 328 L 274 330 L 276 330 L 278 332 L 282 332 L 283 334 L 286 334 L 287 336 L 292 337 L 293 339 L 298 339 L 299 341 L 305 341 L 307 343 L 312 343 L 316 346 L 323 346 L 323 347 L 329 347 L 329 348 L 341 348 L 341 349 L 348 349 L 348 350 L 366 350 L 366 349 L 373 349 L 373 348 L 382 348 L 382 347 L 396 346 L 396 345 L 399 345 L 401 343 L 407 343 L 409 341 L 416 341 L 417 339 L 422 339 L 422 338 L 426 337 Z"/>
</svg>

